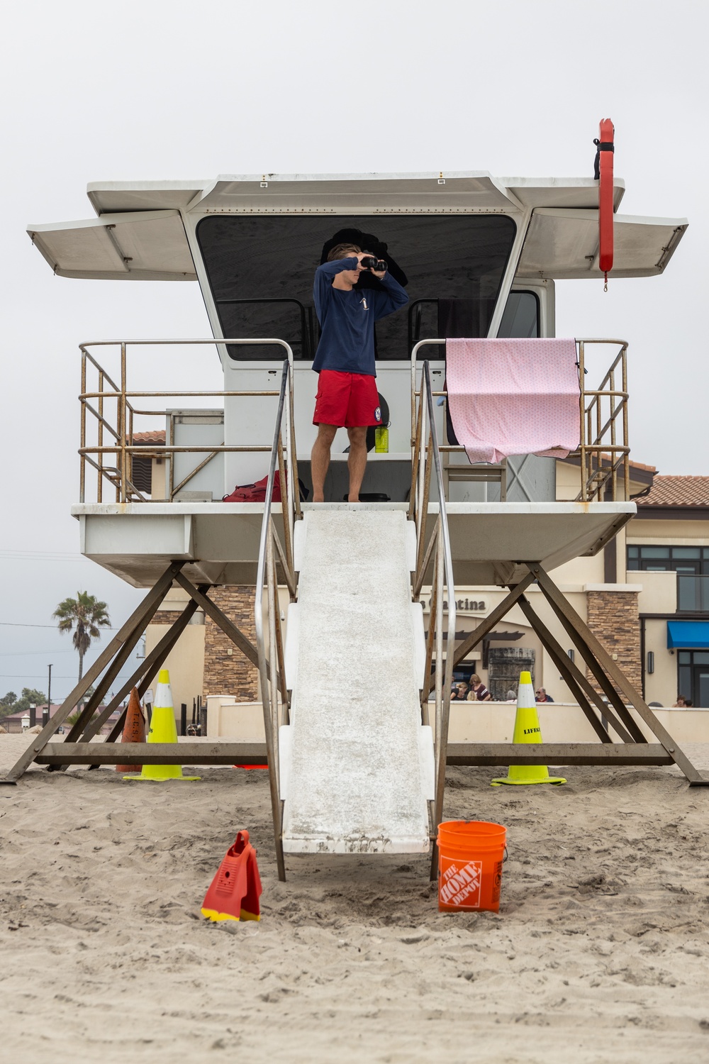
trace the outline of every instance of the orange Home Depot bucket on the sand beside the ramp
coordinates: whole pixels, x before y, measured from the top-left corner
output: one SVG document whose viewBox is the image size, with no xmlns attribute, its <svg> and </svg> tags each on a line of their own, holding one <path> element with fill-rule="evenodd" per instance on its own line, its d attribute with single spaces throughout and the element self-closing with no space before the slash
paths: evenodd
<svg viewBox="0 0 709 1064">
<path fill-rule="evenodd" d="M 500 910 L 507 829 L 487 820 L 438 826 L 438 911 Z"/>
</svg>

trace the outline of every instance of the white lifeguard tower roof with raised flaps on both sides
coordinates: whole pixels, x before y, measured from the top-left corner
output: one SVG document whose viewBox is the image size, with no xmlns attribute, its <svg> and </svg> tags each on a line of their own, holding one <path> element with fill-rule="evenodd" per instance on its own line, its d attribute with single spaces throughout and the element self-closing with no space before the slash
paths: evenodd
<svg viewBox="0 0 709 1064">
<path fill-rule="evenodd" d="M 618 207 L 624 183 L 614 182 Z M 30 226 L 62 277 L 195 280 L 180 212 L 205 214 L 507 214 L 533 212 L 518 277 L 597 276 L 598 184 L 592 178 L 493 178 L 486 171 L 235 174 L 214 181 L 95 182 L 98 220 Z M 661 273 L 686 219 L 615 215 L 613 277 Z"/>
</svg>

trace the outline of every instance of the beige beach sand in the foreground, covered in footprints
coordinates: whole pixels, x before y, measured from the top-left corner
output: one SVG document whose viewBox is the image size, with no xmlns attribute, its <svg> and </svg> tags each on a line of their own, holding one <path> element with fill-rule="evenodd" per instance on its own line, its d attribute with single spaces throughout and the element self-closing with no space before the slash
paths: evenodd
<svg viewBox="0 0 709 1064">
<path fill-rule="evenodd" d="M 0 769 L 26 743 L 0 735 Z M 450 770 L 448 818 L 508 828 L 499 915 L 439 914 L 418 857 L 289 858 L 278 883 L 267 774 L 201 775 L 0 788 L 5 1060 L 709 1060 L 709 788 L 676 769 Z M 242 827 L 261 922 L 208 924 Z"/>
</svg>

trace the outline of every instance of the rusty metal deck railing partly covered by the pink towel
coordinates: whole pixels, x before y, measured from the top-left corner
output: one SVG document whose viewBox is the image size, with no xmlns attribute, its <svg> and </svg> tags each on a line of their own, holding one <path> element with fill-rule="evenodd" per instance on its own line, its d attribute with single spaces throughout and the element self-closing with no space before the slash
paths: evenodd
<svg viewBox="0 0 709 1064">
<path fill-rule="evenodd" d="M 411 349 L 411 454 L 416 444 L 417 398 L 417 356 L 420 348 L 426 345 L 445 344 L 444 338 L 422 339 Z M 586 378 L 586 346 L 589 344 L 618 345 L 620 351 L 597 388 L 587 388 Z M 623 479 L 623 498 L 630 498 L 630 445 L 628 440 L 628 377 L 627 349 L 623 339 L 583 338 L 576 339 L 578 350 L 579 378 L 579 446 L 570 456 L 580 459 L 580 487 L 576 502 L 604 501 L 604 495 L 610 496 L 610 501 L 618 501 L 619 472 Z M 620 387 L 617 387 L 617 375 L 620 376 Z M 434 396 L 446 396 L 448 393 L 432 392 Z M 608 401 L 607 416 L 603 413 L 603 403 Z M 595 425 L 594 425 L 595 422 Z M 620 430 L 619 430 L 620 426 Z M 465 451 L 461 446 L 445 445 L 439 447 L 441 452 Z M 607 459 L 610 458 L 610 461 Z M 461 469 L 466 469 L 463 465 Z M 484 468 L 484 466 L 480 466 Z M 490 467 L 494 468 L 493 466 Z"/>
</svg>

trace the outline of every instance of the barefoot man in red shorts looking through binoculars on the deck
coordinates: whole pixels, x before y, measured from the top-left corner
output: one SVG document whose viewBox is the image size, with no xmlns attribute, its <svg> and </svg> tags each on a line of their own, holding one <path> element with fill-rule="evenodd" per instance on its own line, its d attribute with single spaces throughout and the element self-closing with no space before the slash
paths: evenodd
<svg viewBox="0 0 709 1064">
<path fill-rule="evenodd" d="M 357 290 L 369 271 L 382 288 Z M 315 275 L 315 307 L 320 343 L 313 363 L 320 375 L 313 423 L 318 436 L 310 455 L 313 501 L 324 502 L 330 450 L 338 428 L 350 437 L 350 502 L 359 501 L 367 465 L 367 429 L 382 423 L 374 365 L 374 322 L 408 302 L 408 296 L 387 272 L 387 263 L 356 244 L 338 244 Z"/>
</svg>

